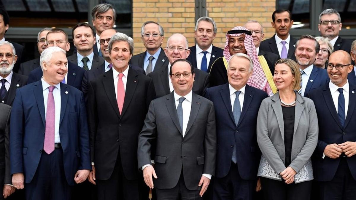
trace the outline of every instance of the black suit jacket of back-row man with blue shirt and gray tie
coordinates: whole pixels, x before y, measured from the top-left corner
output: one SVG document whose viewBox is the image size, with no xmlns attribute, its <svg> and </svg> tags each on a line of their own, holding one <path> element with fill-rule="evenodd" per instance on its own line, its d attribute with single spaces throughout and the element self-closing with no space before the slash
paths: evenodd
<svg viewBox="0 0 356 200">
<path fill-rule="evenodd" d="M 132 56 L 129 63 L 132 64 L 133 66 L 141 67 L 143 69 L 143 64 L 145 64 L 145 57 L 146 57 L 146 51 L 139 53 L 135 56 Z M 159 53 L 153 72 L 155 72 L 156 70 L 160 70 L 163 66 L 168 64 L 168 62 L 169 62 L 168 58 L 164 53 L 163 48 L 161 47 L 161 52 Z"/>
</svg>

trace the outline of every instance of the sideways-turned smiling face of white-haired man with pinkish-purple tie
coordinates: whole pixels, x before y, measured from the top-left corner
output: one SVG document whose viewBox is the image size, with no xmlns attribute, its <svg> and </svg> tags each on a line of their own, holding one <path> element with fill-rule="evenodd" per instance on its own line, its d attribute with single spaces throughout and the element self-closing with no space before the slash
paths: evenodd
<svg viewBox="0 0 356 200">
<path fill-rule="evenodd" d="M 66 77 L 68 72 L 68 60 L 63 52 L 55 52 L 52 58 L 46 63 L 43 61 L 43 80 L 49 85 L 57 85 Z"/>
</svg>

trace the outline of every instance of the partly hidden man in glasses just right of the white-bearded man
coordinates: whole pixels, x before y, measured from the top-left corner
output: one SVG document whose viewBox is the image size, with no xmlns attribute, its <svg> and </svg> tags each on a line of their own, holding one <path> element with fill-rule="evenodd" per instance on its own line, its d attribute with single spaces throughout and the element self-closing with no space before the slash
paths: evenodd
<svg viewBox="0 0 356 200">
<path fill-rule="evenodd" d="M 41 53 L 43 50 L 47 48 L 46 35 L 48 31 L 52 30 L 52 28 L 43 28 L 37 35 L 37 47 L 38 53 Z M 33 69 L 40 67 L 40 57 L 35 58 L 33 60 L 28 60 L 24 63 L 20 64 L 19 74 L 25 75 L 28 77 Z"/>
</svg>

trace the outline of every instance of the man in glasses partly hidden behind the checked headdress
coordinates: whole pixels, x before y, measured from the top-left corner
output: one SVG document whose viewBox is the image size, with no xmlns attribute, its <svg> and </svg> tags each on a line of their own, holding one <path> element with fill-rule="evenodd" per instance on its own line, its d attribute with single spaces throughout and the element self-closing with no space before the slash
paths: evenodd
<svg viewBox="0 0 356 200">
<path fill-rule="evenodd" d="M 257 20 L 249 20 L 247 23 L 244 25 L 245 28 L 247 28 L 249 31 L 252 33 L 252 39 L 253 39 L 253 44 L 255 44 L 256 51 L 258 53 L 258 59 L 260 60 L 260 64 L 265 64 L 267 63 L 269 70 L 271 70 L 272 75 L 274 74 L 274 64 L 277 62 L 277 60 L 281 59 L 279 55 L 274 54 L 272 52 L 268 51 L 263 51 L 260 49 L 260 44 L 263 38 L 265 38 L 265 33 L 263 33 L 263 28 L 260 23 L 258 23 Z M 266 62 L 262 62 L 266 60 Z"/>
</svg>

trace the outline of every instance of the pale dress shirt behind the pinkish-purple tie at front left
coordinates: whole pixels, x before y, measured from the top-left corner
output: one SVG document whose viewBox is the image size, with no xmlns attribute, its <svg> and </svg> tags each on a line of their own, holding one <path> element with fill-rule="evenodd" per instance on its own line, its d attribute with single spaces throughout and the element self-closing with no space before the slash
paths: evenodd
<svg viewBox="0 0 356 200">
<path fill-rule="evenodd" d="M 48 100 L 48 93 L 49 85 L 43 77 L 42 81 L 42 89 L 43 89 L 43 102 L 45 103 L 45 116 L 47 114 L 47 100 Z M 61 139 L 59 138 L 59 119 L 61 117 L 61 85 L 58 83 L 54 85 L 55 88 L 52 91 L 53 98 L 54 98 L 54 107 L 55 107 L 55 120 L 54 120 L 54 143 L 61 143 Z"/>
</svg>

